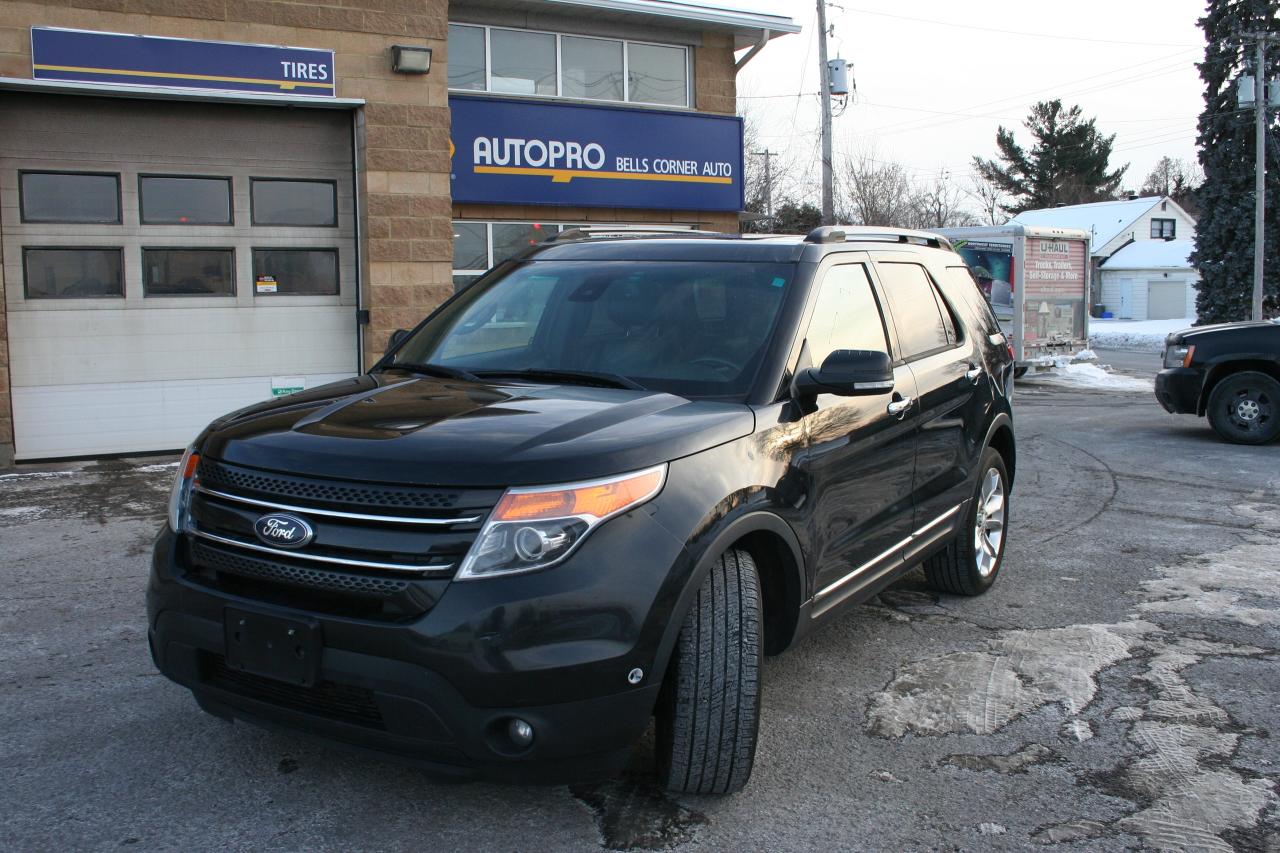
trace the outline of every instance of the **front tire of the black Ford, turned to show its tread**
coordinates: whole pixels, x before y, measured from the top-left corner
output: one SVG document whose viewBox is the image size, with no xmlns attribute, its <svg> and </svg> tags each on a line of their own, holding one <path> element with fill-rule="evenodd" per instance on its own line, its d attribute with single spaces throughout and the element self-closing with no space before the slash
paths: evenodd
<svg viewBox="0 0 1280 853">
<path fill-rule="evenodd" d="M 760 722 L 760 584 L 745 551 L 721 556 L 699 588 L 657 716 L 658 779 L 668 790 L 742 790 Z"/>
</svg>

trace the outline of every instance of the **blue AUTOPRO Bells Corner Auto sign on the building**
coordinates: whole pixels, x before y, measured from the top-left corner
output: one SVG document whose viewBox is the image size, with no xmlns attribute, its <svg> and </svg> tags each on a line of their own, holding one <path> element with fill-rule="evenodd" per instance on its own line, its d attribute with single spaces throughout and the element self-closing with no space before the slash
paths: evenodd
<svg viewBox="0 0 1280 853">
<path fill-rule="evenodd" d="M 454 202 L 742 209 L 735 115 L 451 97 Z"/>
</svg>

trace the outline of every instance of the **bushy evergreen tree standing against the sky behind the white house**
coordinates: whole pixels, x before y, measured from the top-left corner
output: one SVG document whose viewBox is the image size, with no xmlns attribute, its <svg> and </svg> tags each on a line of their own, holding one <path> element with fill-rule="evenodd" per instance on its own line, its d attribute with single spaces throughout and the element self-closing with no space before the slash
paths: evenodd
<svg viewBox="0 0 1280 853">
<path fill-rule="evenodd" d="M 1034 140 L 1030 151 L 1001 126 L 996 132 L 1000 161 L 973 159 L 978 174 L 1010 196 L 1011 204 L 1002 205 L 1006 213 L 1115 197 L 1129 167 L 1110 170 L 1114 133 L 1102 136 L 1096 119 L 1085 122 L 1079 106 L 1065 109 L 1056 99 L 1036 104 L 1024 124 Z"/>
</svg>

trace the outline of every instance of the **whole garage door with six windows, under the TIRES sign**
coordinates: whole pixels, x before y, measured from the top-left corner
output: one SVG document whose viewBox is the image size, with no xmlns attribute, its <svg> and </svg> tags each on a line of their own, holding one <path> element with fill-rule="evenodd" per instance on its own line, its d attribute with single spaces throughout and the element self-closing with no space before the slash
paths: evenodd
<svg viewBox="0 0 1280 853">
<path fill-rule="evenodd" d="M 18 459 L 184 447 L 357 370 L 351 114 L 0 95 Z"/>
</svg>

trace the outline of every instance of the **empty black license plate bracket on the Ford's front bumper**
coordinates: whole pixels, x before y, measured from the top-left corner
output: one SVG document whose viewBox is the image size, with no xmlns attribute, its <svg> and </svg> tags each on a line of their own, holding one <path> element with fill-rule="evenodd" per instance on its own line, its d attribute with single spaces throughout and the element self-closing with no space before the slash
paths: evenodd
<svg viewBox="0 0 1280 853">
<path fill-rule="evenodd" d="M 320 624 L 238 607 L 223 611 L 227 667 L 315 686 L 320 674 Z"/>
</svg>

